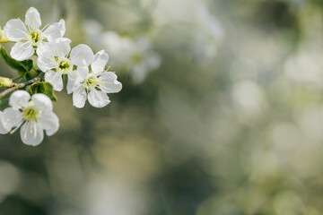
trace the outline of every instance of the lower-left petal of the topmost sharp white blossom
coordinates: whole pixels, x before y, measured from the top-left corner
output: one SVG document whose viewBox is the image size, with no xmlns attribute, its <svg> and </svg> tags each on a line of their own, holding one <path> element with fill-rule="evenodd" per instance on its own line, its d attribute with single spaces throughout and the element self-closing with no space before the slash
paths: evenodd
<svg viewBox="0 0 323 215">
<path fill-rule="evenodd" d="M 35 53 L 30 42 L 17 42 L 14 44 L 10 55 L 17 61 L 23 61 L 30 58 Z"/>
</svg>

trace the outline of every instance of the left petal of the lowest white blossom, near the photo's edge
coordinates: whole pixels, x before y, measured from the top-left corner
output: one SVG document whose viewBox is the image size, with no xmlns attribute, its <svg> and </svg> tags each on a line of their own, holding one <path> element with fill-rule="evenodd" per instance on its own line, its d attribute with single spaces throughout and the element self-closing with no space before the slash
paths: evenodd
<svg viewBox="0 0 323 215">
<path fill-rule="evenodd" d="M 5 130 L 11 131 L 13 127 L 21 125 L 22 112 L 15 110 L 12 107 L 5 108 L 2 116 L 2 123 Z"/>
</svg>

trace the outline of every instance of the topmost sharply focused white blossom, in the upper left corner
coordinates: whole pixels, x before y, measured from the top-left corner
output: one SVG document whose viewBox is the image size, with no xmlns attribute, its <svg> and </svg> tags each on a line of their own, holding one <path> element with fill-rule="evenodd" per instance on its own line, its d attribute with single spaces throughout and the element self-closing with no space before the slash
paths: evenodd
<svg viewBox="0 0 323 215">
<path fill-rule="evenodd" d="M 65 34 L 64 20 L 52 25 L 48 24 L 42 30 L 39 30 L 40 25 L 39 12 L 33 7 L 27 11 L 25 23 L 20 19 L 12 19 L 6 22 L 4 26 L 6 38 L 17 42 L 10 52 L 14 59 L 18 61 L 28 59 L 35 53 L 35 50 L 39 55 L 45 43 L 62 38 Z"/>
</svg>

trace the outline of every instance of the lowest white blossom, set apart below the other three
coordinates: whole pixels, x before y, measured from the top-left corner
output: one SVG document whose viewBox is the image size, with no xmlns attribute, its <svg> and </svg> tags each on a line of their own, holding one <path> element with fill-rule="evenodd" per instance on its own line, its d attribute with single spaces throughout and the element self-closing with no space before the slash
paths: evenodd
<svg viewBox="0 0 323 215">
<path fill-rule="evenodd" d="M 9 99 L 8 107 L 2 114 L 4 130 L 15 132 L 21 125 L 22 142 L 36 146 L 42 142 L 44 132 L 48 136 L 57 133 L 59 121 L 53 113 L 53 104 L 48 96 L 38 93 L 31 95 L 25 90 L 16 90 Z"/>
</svg>

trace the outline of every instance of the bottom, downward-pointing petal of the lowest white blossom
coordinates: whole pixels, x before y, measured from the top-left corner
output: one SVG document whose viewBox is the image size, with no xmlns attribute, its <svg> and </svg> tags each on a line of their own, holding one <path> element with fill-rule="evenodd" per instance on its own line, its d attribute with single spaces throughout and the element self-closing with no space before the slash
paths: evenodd
<svg viewBox="0 0 323 215">
<path fill-rule="evenodd" d="M 21 128 L 22 142 L 36 146 L 44 139 L 44 132 L 40 123 L 25 122 Z"/>
</svg>

